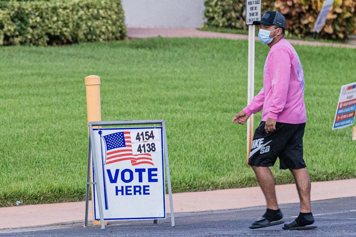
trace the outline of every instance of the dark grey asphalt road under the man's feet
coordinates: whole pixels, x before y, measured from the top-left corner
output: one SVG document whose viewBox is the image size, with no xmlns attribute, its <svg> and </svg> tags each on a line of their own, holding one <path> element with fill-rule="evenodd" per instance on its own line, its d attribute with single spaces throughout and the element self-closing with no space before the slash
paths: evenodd
<svg viewBox="0 0 356 237">
<path fill-rule="evenodd" d="M 292 221 L 299 214 L 299 204 L 282 204 L 286 222 Z M 176 227 L 171 227 L 171 220 L 153 221 L 116 221 L 100 230 L 99 226 L 83 228 L 83 222 L 67 223 L 55 226 L 13 228 L 0 230 L 0 236 L 49 237 L 49 236 L 169 236 L 169 237 L 213 237 L 213 236 L 286 236 L 286 237 L 356 237 L 356 197 L 337 198 L 313 201 L 312 209 L 315 218 L 315 230 L 290 231 L 282 230 L 283 225 L 248 229 L 250 223 L 258 219 L 264 206 L 234 210 L 203 211 L 177 213 Z"/>
</svg>

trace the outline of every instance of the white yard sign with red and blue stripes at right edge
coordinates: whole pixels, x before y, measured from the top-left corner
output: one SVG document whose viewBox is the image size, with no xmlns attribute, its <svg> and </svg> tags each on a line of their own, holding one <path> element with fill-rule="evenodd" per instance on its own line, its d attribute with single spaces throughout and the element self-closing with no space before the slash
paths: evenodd
<svg viewBox="0 0 356 237">
<path fill-rule="evenodd" d="M 356 82 L 341 86 L 339 103 L 334 119 L 334 129 L 345 128 L 354 124 L 356 111 Z"/>
</svg>

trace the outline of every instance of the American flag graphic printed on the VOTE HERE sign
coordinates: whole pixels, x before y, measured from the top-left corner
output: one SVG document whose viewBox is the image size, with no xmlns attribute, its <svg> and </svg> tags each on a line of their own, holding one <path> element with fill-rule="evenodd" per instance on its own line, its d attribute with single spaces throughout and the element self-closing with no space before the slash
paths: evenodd
<svg viewBox="0 0 356 237">
<path fill-rule="evenodd" d="M 133 155 L 130 132 L 112 133 L 103 136 L 106 145 L 105 165 L 131 160 L 131 165 L 153 165 L 151 154 L 142 153 Z"/>
</svg>

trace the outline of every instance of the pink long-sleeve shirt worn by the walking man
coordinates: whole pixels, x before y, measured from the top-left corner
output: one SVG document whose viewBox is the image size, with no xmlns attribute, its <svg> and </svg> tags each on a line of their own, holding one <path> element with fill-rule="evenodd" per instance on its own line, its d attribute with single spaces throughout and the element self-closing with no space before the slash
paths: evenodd
<svg viewBox="0 0 356 237">
<path fill-rule="evenodd" d="M 292 124 L 307 121 L 302 64 L 286 39 L 279 40 L 269 50 L 263 68 L 263 88 L 244 111 L 251 115 L 262 108 L 262 121 L 267 118 Z"/>
</svg>

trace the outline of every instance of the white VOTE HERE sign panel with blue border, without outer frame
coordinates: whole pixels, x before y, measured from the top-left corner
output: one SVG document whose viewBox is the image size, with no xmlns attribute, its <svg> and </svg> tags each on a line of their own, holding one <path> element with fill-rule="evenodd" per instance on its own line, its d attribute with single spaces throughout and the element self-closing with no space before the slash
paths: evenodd
<svg viewBox="0 0 356 237">
<path fill-rule="evenodd" d="M 102 192 L 100 220 L 166 219 L 162 127 L 93 129 Z M 94 173 L 94 166 L 93 166 Z M 94 179 L 94 178 L 93 178 Z"/>
</svg>

